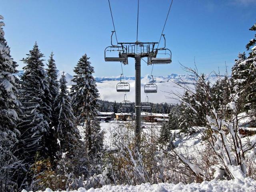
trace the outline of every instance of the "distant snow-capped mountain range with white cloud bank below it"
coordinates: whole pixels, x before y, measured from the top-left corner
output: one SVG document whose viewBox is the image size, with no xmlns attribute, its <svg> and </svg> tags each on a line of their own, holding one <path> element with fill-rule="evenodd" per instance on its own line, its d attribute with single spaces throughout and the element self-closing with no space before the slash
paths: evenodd
<svg viewBox="0 0 256 192">
<path fill-rule="evenodd" d="M 58 80 L 60 79 L 64 71 L 58 71 Z M 23 71 L 19 71 L 15 76 L 21 76 Z M 70 87 L 74 82 L 72 82 L 73 76 L 64 72 L 67 80 L 67 86 Z M 216 82 L 216 75 L 212 74 L 208 77 L 208 80 L 211 83 Z M 120 82 L 120 76 L 112 77 L 95 77 L 97 82 L 97 87 L 100 92 L 100 98 L 102 100 L 121 102 L 124 99 L 124 93 L 116 92 L 116 84 Z M 125 76 L 124 81 L 130 84 L 130 92 L 126 93 L 128 100 L 134 102 L 135 100 L 135 77 L 134 76 Z M 144 93 L 144 85 L 152 83 L 152 78 L 150 75 L 141 78 L 141 98 L 142 101 L 145 100 L 146 94 Z M 149 102 L 160 103 L 177 103 L 178 100 L 172 98 L 174 97 L 170 92 L 177 92 L 183 94 L 184 89 L 181 89 L 177 86 L 176 83 L 186 84 L 186 86 L 193 87 L 194 77 L 188 74 L 170 74 L 168 76 L 154 76 L 154 83 L 158 86 L 157 93 L 148 94 Z"/>
</svg>

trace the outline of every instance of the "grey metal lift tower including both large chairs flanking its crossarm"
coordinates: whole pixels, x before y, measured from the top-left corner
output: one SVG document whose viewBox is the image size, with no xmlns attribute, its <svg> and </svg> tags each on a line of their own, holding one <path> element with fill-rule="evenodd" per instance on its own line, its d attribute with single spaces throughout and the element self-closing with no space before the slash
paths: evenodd
<svg viewBox="0 0 256 192">
<path fill-rule="evenodd" d="M 135 138 L 136 147 L 140 147 L 141 140 L 141 58 L 147 57 L 147 64 L 170 64 L 172 62 L 172 52 L 165 48 L 155 48 L 158 42 L 117 42 L 113 45 L 112 36 L 115 31 L 112 31 L 111 45 L 105 49 L 105 61 L 116 61 L 128 64 L 128 58 L 135 59 Z M 116 54 L 118 53 L 118 54 Z M 167 57 L 159 57 L 165 55 Z"/>
</svg>

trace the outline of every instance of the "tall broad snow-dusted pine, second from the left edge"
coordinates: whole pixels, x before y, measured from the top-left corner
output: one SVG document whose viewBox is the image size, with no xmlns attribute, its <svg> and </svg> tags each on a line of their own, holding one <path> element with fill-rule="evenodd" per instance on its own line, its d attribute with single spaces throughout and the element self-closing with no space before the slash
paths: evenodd
<svg viewBox="0 0 256 192">
<path fill-rule="evenodd" d="M 52 105 L 51 94 L 46 80 L 46 72 L 37 43 L 22 61 L 26 64 L 21 77 L 20 101 L 23 116 L 19 129 L 22 138 L 24 162 L 34 163 L 37 153 L 42 158 L 53 158 L 56 140 L 52 140 L 53 130 L 49 127 Z"/>
</svg>

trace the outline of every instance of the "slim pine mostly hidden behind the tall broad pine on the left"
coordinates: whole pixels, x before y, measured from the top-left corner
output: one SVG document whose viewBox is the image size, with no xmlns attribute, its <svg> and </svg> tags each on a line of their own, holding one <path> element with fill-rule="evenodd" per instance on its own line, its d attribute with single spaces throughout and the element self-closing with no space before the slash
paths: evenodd
<svg viewBox="0 0 256 192">
<path fill-rule="evenodd" d="M 58 76 L 57 76 L 56 64 L 53 56 L 54 54 L 52 52 L 47 64 L 48 69 L 46 69 L 46 73 L 47 73 L 46 79 L 49 83 L 50 94 L 52 95 L 52 98 L 50 100 L 52 105 L 54 104 L 54 100 L 58 95 L 58 81 L 57 81 Z M 55 126 L 54 123 L 56 122 L 57 115 L 58 114 L 54 114 L 54 112 L 52 111 L 52 119 L 51 119 L 50 127 Z"/>
</svg>

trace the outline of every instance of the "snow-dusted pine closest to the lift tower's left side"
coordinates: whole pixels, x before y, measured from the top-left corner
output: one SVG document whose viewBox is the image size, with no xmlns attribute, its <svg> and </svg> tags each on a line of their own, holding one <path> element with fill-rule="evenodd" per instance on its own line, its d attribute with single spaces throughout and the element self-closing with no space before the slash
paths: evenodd
<svg viewBox="0 0 256 192">
<path fill-rule="evenodd" d="M 96 137 L 97 132 L 94 132 L 93 122 L 97 116 L 98 111 L 98 89 L 96 81 L 92 74 L 94 68 L 90 65 L 89 58 L 86 54 L 80 58 L 76 67 L 74 68 L 73 82 L 71 96 L 72 96 L 72 108 L 74 115 L 77 118 L 77 123 L 85 123 L 85 140 L 88 151 L 92 150 L 93 140 L 92 137 Z M 95 126 L 95 125 L 94 125 Z"/>
</svg>

